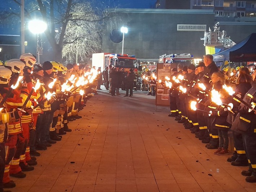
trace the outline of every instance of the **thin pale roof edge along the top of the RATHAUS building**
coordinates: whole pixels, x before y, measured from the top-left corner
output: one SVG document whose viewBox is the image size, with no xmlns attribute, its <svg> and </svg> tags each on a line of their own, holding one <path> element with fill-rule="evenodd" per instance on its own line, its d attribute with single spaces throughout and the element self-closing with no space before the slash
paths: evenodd
<svg viewBox="0 0 256 192">
<path fill-rule="evenodd" d="M 125 9 L 125 8 L 116 8 L 116 9 L 109 9 L 109 11 L 124 12 L 124 13 L 214 14 L 213 10 L 202 10 L 202 9 Z"/>
</svg>

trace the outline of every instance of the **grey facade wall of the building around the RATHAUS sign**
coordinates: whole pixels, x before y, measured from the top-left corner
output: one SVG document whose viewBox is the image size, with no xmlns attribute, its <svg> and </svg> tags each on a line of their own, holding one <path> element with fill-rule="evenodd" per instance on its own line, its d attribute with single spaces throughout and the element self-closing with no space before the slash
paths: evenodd
<svg viewBox="0 0 256 192">
<path fill-rule="evenodd" d="M 202 57 L 205 53 L 204 31 L 177 31 L 177 24 L 214 25 L 214 13 L 210 10 L 179 9 L 117 9 L 128 27 L 125 34 L 124 53 L 137 58 L 159 58 L 165 53 L 191 53 Z M 118 26 L 121 27 L 121 26 Z M 114 44 L 109 33 L 103 35 L 103 52 L 121 53 L 122 43 Z"/>
</svg>

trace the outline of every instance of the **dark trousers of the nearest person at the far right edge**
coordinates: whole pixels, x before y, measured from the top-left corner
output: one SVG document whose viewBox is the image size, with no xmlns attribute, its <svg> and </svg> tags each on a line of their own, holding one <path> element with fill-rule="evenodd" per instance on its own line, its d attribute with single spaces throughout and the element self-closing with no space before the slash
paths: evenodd
<svg viewBox="0 0 256 192">
<path fill-rule="evenodd" d="M 250 169 L 252 170 L 252 175 L 256 177 L 256 134 L 243 134 L 243 141 L 246 156 L 251 162 Z"/>
</svg>

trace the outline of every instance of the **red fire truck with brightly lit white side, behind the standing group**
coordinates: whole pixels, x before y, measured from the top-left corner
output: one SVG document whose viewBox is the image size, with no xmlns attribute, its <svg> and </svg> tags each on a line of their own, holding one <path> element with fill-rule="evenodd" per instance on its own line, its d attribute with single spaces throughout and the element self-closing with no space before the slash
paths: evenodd
<svg viewBox="0 0 256 192">
<path fill-rule="evenodd" d="M 94 53 L 92 54 L 92 66 L 101 67 L 103 71 L 108 66 L 124 68 L 125 71 L 135 69 L 137 72 L 137 59 L 134 55 L 111 54 L 111 53 Z"/>
</svg>

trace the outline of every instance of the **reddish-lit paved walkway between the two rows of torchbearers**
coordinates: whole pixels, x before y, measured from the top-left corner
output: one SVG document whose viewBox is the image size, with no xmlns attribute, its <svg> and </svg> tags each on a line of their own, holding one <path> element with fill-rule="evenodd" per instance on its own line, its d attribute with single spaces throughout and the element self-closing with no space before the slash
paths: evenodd
<svg viewBox="0 0 256 192">
<path fill-rule="evenodd" d="M 12 192 L 255 192 L 226 158 L 155 110 L 153 96 L 112 97 L 99 91 L 72 121 L 73 130 L 41 151 L 35 170 L 12 178 Z M 123 92 L 120 91 L 124 95 Z M 71 163 L 74 162 L 74 163 Z M 210 175 L 209 175 L 210 174 Z"/>
</svg>

